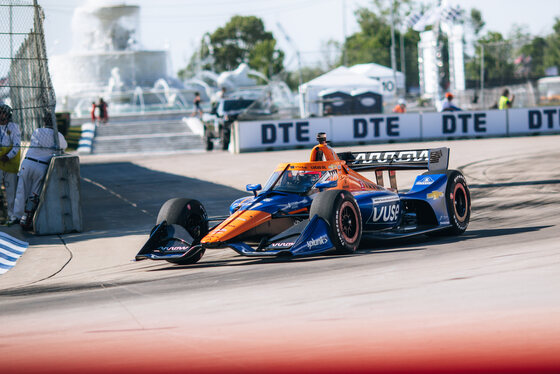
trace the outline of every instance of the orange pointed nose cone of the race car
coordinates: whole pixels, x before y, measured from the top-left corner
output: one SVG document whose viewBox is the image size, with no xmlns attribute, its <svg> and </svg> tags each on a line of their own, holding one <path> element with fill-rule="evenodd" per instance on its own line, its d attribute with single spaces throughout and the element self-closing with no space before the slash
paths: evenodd
<svg viewBox="0 0 560 374">
<path fill-rule="evenodd" d="M 201 244 L 226 242 L 270 220 L 270 213 L 259 210 L 237 211 L 208 233 Z"/>
</svg>

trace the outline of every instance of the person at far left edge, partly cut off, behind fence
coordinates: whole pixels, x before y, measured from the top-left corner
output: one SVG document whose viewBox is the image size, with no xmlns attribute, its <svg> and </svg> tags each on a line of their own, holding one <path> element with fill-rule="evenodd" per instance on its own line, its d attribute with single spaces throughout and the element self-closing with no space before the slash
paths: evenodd
<svg viewBox="0 0 560 374">
<path fill-rule="evenodd" d="M 7 225 L 18 221 L 14 214 L 14 200 L 16 197 L 17 172 L 20 161 L 19 126 L 12 122 L 12 108 L 0 105 L 0 185 L 6 190 Z"/>
</svg>

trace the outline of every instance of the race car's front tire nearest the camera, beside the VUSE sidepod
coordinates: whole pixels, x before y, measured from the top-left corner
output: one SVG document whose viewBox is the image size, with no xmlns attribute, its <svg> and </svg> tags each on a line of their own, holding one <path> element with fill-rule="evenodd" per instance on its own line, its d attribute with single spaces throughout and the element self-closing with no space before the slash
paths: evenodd
<svg viewBox="0 0 560 374">
<path fill-rule="evenodd" d="M 309 217 L 318 215 L 329 226 L 329 238 L 336 253 L 354 253 L 362 238 L 362 215 L 354 196 L 346 190 L 320 192 L 309 211 Z"/>
</svg>

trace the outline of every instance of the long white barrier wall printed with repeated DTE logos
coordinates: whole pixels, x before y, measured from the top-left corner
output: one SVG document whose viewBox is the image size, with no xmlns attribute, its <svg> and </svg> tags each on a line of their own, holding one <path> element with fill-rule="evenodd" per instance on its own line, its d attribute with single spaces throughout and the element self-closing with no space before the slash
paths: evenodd
<svg viewBox="0 0 560 374">
<path fill-rule="evenodd" d="M 236 122 L 233 151 L 306 147 L 321 131 L 333 144 L 560 133 L 560 107 Z"/>
</svg>

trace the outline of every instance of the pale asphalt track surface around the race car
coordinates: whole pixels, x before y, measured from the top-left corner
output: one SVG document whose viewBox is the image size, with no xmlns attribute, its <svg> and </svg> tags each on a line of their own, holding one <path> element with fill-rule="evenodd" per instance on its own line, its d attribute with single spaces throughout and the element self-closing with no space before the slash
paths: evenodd
<svg viewBox="0 0 560 374">
<path fill-rule="evenodd" d="M 165 200 L 226 214 L 245 184 L 309 150 L 81 157 L 84 232 L 4 229 L 31 246 L 0 278 L 1 371 L 558 373 L 559 144 L 352 147 L 450 147 L 471 187 L 467 232 L 350 256 L 207 251 L 191 266 L 131 261 Z"/>
</svg>

